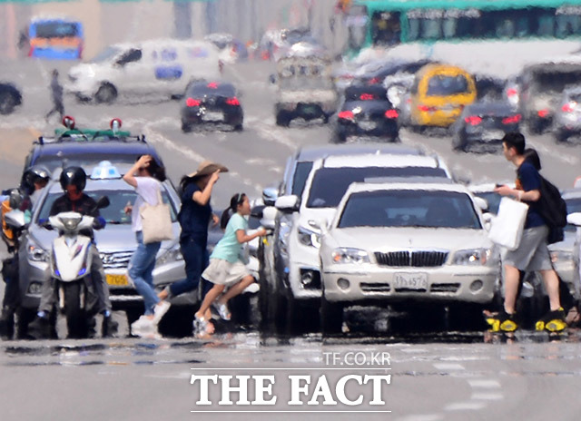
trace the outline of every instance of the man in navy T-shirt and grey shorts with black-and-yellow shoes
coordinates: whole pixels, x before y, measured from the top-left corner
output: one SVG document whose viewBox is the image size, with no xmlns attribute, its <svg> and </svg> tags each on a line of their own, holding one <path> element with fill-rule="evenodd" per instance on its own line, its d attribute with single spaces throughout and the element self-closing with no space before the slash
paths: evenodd
<svg viewBox="0 0 581 421">
<path fill-rule="evenodd" d="M 525 156 L 525 136 L 520 132 L 509 132 L 502 139 L 502 147 L 507 161 L 517 167 L 516 188 L 507 185 L 499 186 L 495 191 L 501 196 L 512 196 L 518 201 L 528 204 L 527 220 L 522 239 L 517 250 L 507 250 L 503 257 L 505 269 L 505 301 L 504 308 L 496 319 L 498 326 L 504 331 L 514 331 L 518 328 L 515 305 L 519 285 L 519 270 L 538 270 L 543 277 L 545 289 L 550 304 L 550 310 L 540 321 L 542 326 L 550 331 L 566 328 L 565 310 L 559 299 L 559 281 L 553 269 L 547 249 L 548 227 L 537 210 L 540 199 L 541 179 L 535 164 Z M 534 159 L 533 159 L 534 161 Z M 540 166 L 540 160 L 538 160 Z"/>
</svg>

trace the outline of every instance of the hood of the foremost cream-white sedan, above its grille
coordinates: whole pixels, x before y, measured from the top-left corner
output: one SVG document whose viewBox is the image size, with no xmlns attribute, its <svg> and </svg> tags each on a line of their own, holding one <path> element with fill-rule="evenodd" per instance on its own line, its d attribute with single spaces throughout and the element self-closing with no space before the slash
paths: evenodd
<svg viewBox="0 0 581 421">
<path fill-rule="evenodd" d="M 333 247 L 374 251 L 492 248 L 486 230 L 358 227 L 330 230 Z M 327 242 L 331 239 L 324 239 Z"/>
</svg>

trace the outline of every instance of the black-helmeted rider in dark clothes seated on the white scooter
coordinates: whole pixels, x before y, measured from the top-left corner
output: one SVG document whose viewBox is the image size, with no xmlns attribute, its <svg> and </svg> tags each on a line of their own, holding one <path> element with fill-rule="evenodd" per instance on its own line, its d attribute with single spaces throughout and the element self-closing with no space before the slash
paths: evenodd
<svg viewBox="0 0 581 421">
<path fill-rule="evenodd" d="M 64 194 L 56 199 L 50 211 L 50 216 L 61 212 L 74 211 L 82 215 L 94 217 L 94 229 L 101 230 L 105 226 L 105 220 L 99 215 L 96 202 L 84 194 L 87 176 L 81 167 L 68 167 L 63 170 L 60 177 Z M 91 279 L 97 295 L 97 308 L 103 314 L 102 333 L 104 336 L 113 335 L 117 330 L 117 322 L 111 318 L 111 300 L 103 270 L 103 260 L 94 243 L 93 230 L 81 231 L 82 235 L 93 240 L 90 252 L 93 254 L 91 265 Z M 56 302 L 56 290 L 54 279 L 48 278 L 43 283 L 43 291 L 38 306 L 36 318 L 29 325 L 29 333 L 34 338 L 46 338 L 49 336 L 49 315 Z"/>
</svg>

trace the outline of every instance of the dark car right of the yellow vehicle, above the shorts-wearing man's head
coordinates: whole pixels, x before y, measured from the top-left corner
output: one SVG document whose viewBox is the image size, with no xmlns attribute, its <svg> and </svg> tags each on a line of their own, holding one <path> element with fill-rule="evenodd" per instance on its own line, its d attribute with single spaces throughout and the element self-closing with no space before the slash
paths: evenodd
<svg viewBox="0 0 581 421">
<path fill-rule="evenodd" d="M 499 152 L 507 132 L 518 132 L 521 114 L 504 101 L 468 105 L 451 127 L 452 147 L 457 151 Z"/>
</svg>

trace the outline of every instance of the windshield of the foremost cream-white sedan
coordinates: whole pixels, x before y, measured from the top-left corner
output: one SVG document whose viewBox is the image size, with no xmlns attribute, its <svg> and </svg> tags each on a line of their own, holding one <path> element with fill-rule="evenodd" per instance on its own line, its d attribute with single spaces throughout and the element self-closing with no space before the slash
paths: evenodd
<svg viewBox="0 0 581 421">
<path fill-rule="evenodd" d="M 406 190 L 353 193 L 338 225 L 352 227 L 482 229 L 468 194 Z"/>
</svg>

